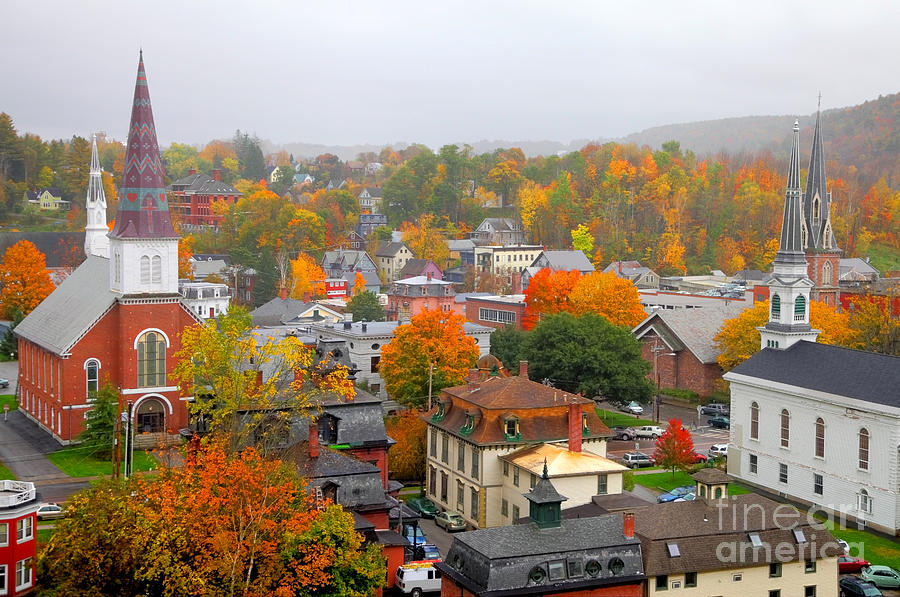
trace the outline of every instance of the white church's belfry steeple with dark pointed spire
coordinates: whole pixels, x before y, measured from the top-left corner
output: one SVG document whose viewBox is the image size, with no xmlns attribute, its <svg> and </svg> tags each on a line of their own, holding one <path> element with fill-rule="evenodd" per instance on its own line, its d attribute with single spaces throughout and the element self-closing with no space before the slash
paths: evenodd
<svg viewBox="0 0 900 597">
<path fill-rule="evenodd" d="M 763 348 L 785 349 L 800 340 L 815 342 L 809 325 L 809 294 L 813 286 L 803 252 L 803 204 L 800 190 L 800 123 L 794 121 L 781 244 L 769 280 L 769 321 L 757 328 Z"/>
</svg>

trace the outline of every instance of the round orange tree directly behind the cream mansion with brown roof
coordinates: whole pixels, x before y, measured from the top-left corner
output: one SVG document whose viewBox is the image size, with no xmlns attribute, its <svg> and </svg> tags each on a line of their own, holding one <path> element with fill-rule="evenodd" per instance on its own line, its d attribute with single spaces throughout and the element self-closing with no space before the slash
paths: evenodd
<svg viewBox="0 0 900 597">
<path fill-rule="evenodd" d="M 463 331 L 464 323 L 461 315 L 425 309 L 397 326 L 394 338 L 381 348 L 379 363 L 391 398 L 406 406 L 424 405 L 430 369 L 433 395 L 463 382 L 479 354 L 475 339 Z"/>
</svg>

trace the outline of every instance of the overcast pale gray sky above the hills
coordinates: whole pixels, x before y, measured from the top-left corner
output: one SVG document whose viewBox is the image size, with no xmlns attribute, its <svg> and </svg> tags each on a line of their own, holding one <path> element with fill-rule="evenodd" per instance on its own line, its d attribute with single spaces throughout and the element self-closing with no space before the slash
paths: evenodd
<svg viewBox="0 0 900 597">
<path fill-rule="evenodd" d="M 122 139 L 143 47 L 160 144 L 617 137 L 898 91 L 900 2 L 49 2 L 0 7 L 20 133 Z"/>
</svg>

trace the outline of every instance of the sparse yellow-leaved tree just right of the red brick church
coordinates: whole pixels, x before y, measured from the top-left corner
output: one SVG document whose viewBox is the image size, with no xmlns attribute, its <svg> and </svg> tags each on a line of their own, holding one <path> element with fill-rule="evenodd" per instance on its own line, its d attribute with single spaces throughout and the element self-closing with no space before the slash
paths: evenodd
<svg viewBox="0 0 900 597">
<path fill-rule="evenodd" d="M 277 446 L 285 426 L 308 413 L 322 392 L 349 397 L 347 369 L 314 362 L 314 352 L 296 337 L 282 339 L 253 329 L 246 309 L 184 329 L 176 354 L 175 379 L 188 396 L 188 409 L 202 417 L 213 435 L 228 438 L 232 449 L 256 443 Z"/>
</svg>

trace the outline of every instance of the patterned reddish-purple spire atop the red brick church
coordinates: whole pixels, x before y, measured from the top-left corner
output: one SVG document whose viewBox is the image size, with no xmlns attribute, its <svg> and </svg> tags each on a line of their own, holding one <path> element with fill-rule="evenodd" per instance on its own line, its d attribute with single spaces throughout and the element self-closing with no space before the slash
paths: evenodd
<svg viewBox="0 0 900 597">
<path fill-rule="evenodd" d="M 165 173 L 159 157 L 156 126 L 150 107 L 150 90 L 144 57 L 138 61 L 125 172 L 119 193 L 116 225 L 110 233 L 118 238 L 178 238 L 169 218 Z"/>
</svg>

